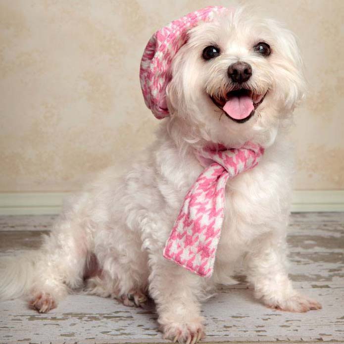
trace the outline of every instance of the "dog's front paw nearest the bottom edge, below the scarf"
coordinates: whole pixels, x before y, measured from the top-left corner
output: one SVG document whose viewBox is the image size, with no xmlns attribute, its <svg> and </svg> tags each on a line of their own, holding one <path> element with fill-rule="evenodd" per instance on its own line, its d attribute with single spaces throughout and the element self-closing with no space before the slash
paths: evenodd
<svg viewBox="0 0 344 344">
<path fill-rule="evenodd" d="M 196 344 L 205 337 L 204 326 L 198 320 L 187 323 L 171 322 L 161 325 L 163 338 L 173 343 Z"/>
</svg>

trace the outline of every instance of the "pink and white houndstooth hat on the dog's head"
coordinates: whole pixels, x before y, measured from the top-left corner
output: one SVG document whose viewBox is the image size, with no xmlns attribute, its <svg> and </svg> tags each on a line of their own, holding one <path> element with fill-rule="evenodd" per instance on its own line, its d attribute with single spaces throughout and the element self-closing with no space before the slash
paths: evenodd
<svg viewBox="0 0 344 344">
<path fill-rule="evenodd" d="M 186 43 L 188 30 L 200 21 L 211 21 L 215 13 L 226 11 L 221 6 L 208 6 L 174 20 L 150 38 L 140 65 L 140 83 L 145 103 L 154 116 L 169 115 L 166 87 L 171 80 L 171 63 L 177 51 Z"/>
</svg>

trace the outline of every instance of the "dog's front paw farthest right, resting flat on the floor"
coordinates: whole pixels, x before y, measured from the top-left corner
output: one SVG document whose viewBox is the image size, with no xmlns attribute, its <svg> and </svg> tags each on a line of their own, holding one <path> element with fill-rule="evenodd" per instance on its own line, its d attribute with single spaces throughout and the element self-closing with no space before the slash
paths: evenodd
<svg viewBox="0 0 344 344">
<path fill-rule="evenodd" d="M 307 296 L 296 294 L 283 301 L 268 304 L 270 308 L 283 310 L 286 312 L 307 312 L 309 310 L 321 309 L 321 304 Z"/>
</svg>

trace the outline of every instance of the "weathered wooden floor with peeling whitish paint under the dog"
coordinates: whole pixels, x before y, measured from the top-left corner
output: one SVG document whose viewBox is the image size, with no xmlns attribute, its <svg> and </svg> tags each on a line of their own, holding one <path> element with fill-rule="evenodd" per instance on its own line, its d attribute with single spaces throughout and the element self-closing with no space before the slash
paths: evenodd
<svg viewBox="0 0 344 344">
<path fill-rule="evenodd" d="M 39 247 L 54 218 L 0 216 L 0 256 Z M 271 310 L 242 282 L 204 303 L 204 343 L 344 343 L 344 213 L 292 214 L 289 247 L 295 287 L 323 309 Z M 48 314 L 22 300 L 0 302 L 0 344 L 165 343 L 157 327 L 153 305 L 129 308 L 97 296 L 69 295 Z"/>
</svg>

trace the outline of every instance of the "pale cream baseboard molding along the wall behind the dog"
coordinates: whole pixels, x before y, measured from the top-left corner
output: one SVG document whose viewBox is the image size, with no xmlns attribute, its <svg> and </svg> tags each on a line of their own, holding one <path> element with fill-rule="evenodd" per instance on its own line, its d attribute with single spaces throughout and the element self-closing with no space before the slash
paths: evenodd
<svg viewBox="0 0 344 344">
<path fill-rule="evenodd" d="M 58 214 L 70 193 L 0 193 L 0 215 Z M 293 212 L 344 211 L 344 190 L 297 190 Z"/>
</svg>

